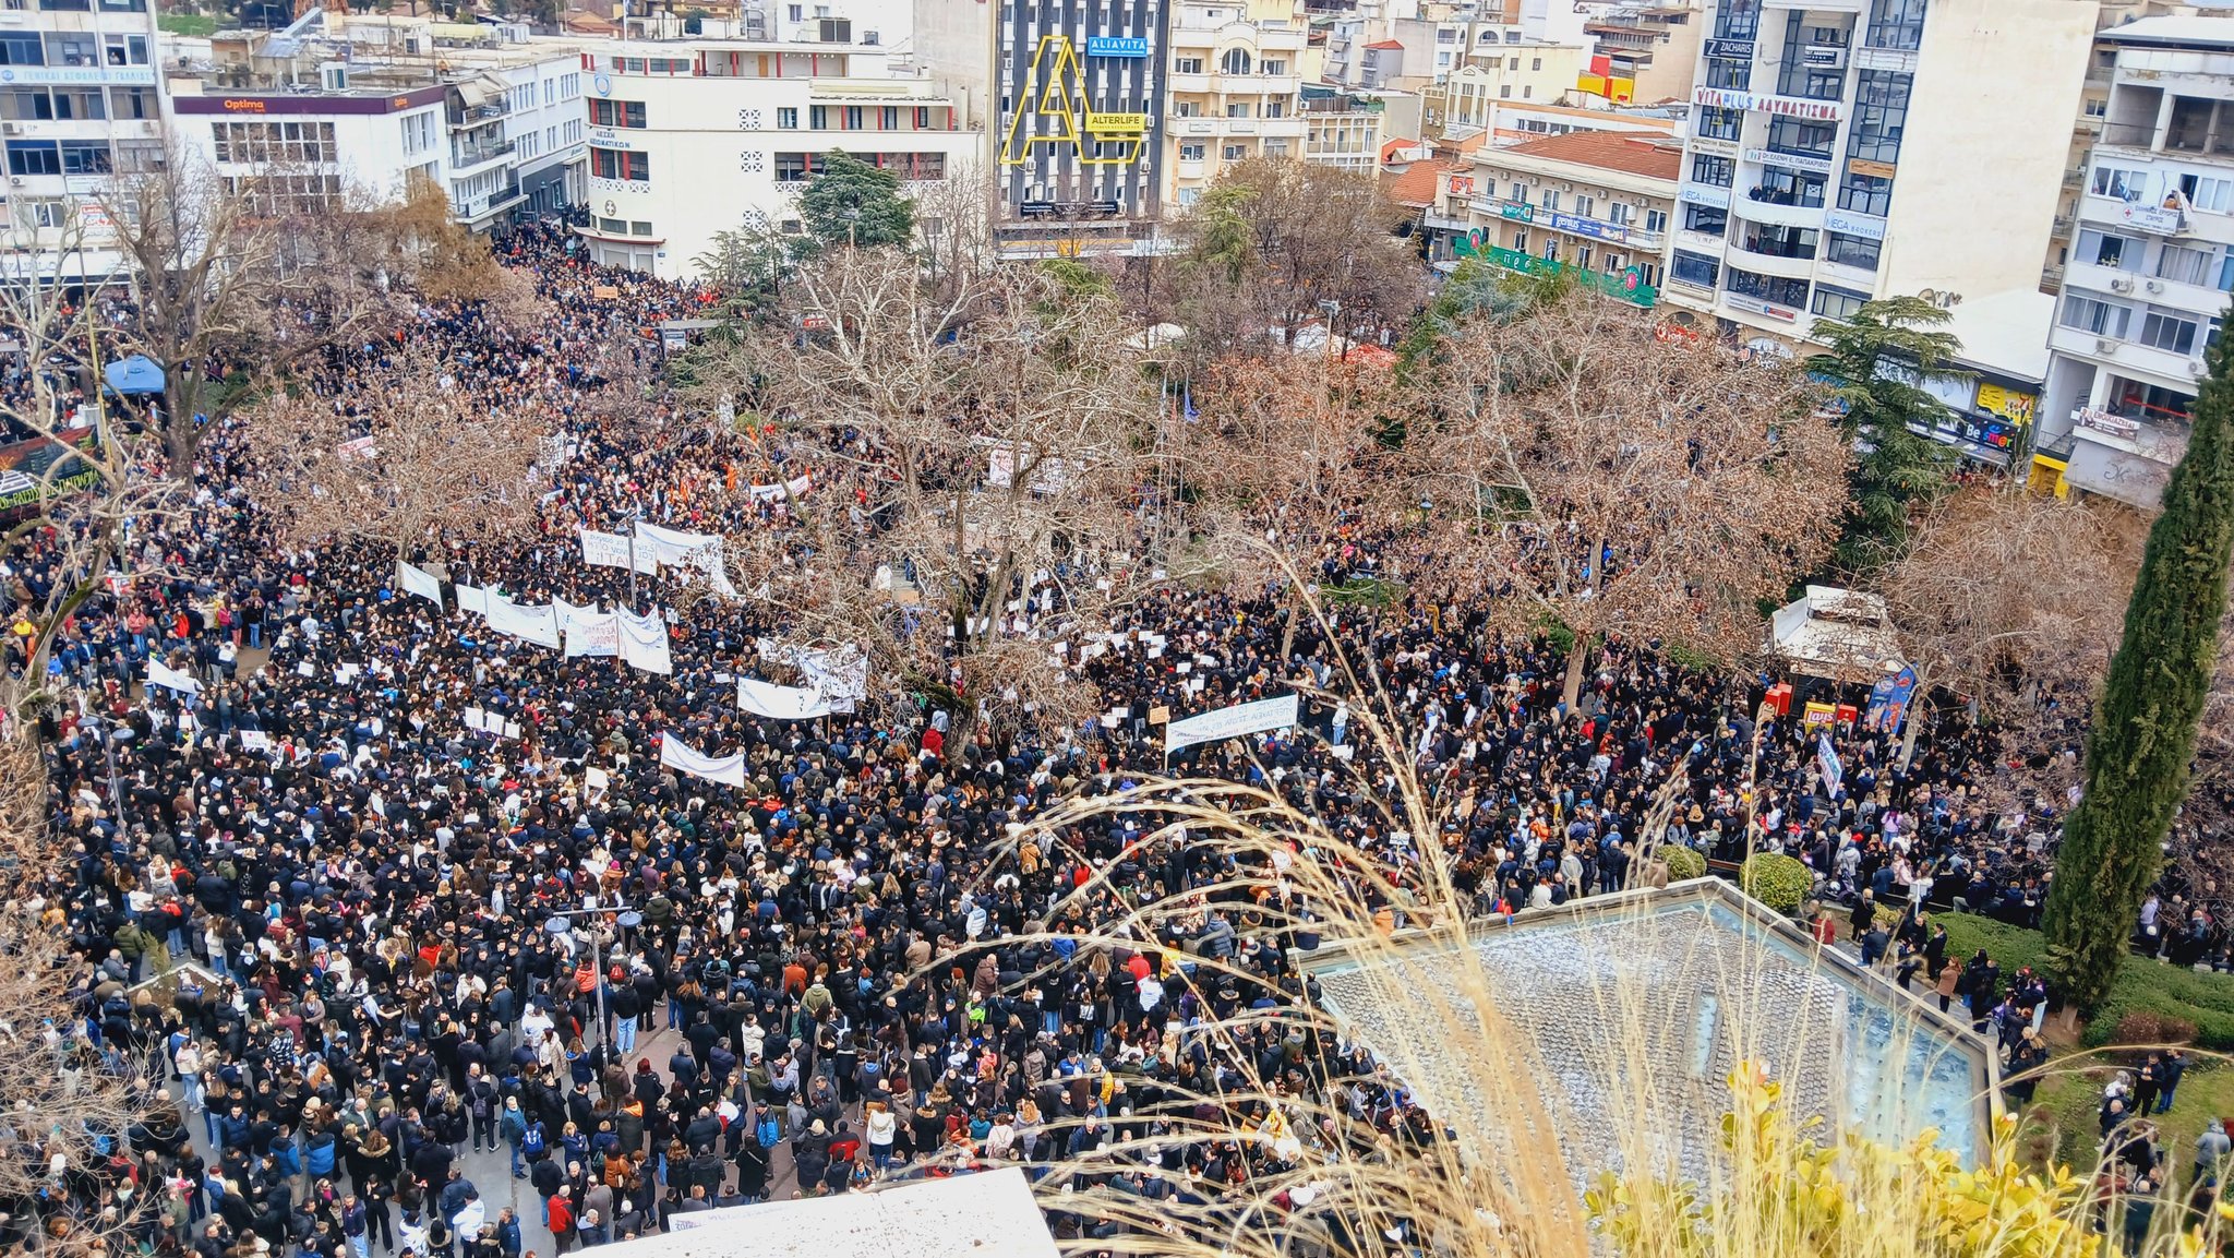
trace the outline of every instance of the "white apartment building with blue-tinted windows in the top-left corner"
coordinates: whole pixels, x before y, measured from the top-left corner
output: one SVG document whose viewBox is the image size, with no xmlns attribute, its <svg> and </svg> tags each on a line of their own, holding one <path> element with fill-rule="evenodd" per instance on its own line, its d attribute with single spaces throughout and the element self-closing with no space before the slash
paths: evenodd
<svg viewBox="0 0 2234 1258">
<path fill-rule="evenodd" d="M 7 266 L 103 277 L 123 266 L 101 194 L 165 161 L 147 0 L 40 0 L 0 9 Z M 63 252 L 63 248 L 71 252 Z"/>
</svg>

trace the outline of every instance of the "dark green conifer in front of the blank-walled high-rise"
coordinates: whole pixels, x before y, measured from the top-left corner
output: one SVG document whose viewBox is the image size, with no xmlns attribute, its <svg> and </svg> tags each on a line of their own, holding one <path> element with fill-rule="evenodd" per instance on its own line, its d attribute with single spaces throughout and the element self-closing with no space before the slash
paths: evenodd
<svg viewBox="0 0 2234 1258">
<path fill-rule="evenodd" d="M 1953 451 L 1928 436 L 1941 407 L 1923 391 L 1928 378 L 1964 375 L 1948 369 L 1961 342 L 1941 331 L 1946 322 L 1948 313 L 1921 297 L 1885 297 L 1816 324 L 1830 353 L 1807 366 L 1836 380 L 1839 427 L 1854 440 L 1854 501 L 1836 552 L 1845 572 L 1899 554 L 1910 509 L 1948 487 Z"/>
</svg>

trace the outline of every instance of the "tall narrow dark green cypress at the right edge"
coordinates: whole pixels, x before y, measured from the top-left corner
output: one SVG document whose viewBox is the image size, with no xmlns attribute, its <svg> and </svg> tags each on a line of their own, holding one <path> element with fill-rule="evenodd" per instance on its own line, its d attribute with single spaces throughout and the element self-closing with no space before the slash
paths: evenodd
<svg viewBox="0 0 2234 1258">
<path fill-rule="evenodd" d="M 2230 375 L 2234 346 L 2221 340 L 2087 733 L 2087 795 L 2064 820 L 2055 858 L 2044 923 L 2049 961 L 2064 999 L 2082 1010 L 2100 1006 L 2118 976 L 2140 900 L 2165 860 L 2171 816 L 2187 793 L 2234 552 Z"/>
</svg>

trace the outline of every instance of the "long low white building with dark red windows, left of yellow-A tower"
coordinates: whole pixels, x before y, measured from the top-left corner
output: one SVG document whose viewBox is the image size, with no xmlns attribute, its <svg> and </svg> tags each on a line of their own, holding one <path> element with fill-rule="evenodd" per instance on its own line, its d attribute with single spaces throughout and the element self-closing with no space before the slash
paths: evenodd
<svg viewBox="0 0 2234 1258">
<path fill-rule="evenodd" d="M 885 49 L 751 40 L 619 40 L 585 56 L 590 257 L 684 277 L 715 235 L 798 232 L 798 194 L 833 150 L 903 188 L 961 174 L 981 145 Z"/>
</svg>

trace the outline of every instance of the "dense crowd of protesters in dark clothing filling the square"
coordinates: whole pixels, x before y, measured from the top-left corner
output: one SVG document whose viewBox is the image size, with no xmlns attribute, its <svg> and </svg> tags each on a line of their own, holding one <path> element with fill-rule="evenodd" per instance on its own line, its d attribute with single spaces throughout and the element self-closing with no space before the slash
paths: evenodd
<svg viewBox="0 0 2234 1258">
<path fill-rule="evenodd" d="M 672 675 L 491 635 L 409 597 L 384 545 L 279 547 L 250 492 L 255 433 L 212 425 L 190 505 L 139 539 L 156 576 L 76 610 L 49 664 L 69 699 L 34 717 L 51 827 L 74 851 L 51 898 L 83 965 L 85 1037 L 172 1081 L 190 1140 L 0 1227 L 92 1222 L 130 1182 L 154 1202 L 136 1240 L 199 1258 L 558 1254 L 657 1231 L 675 1211 L 1057 1162 L 1164 1131 L 1171 1106 L 1240 1075 L 1340 1090 L 1367 1137 L 1425 1131 L 1352 1046 L 1267 1026 L 1238 1061 L 1188 1035 L 1309 999 L 1296 941 L 1247 900 L 1202 903 L 1188 934 L 1159 941 L 1171 952 L 1061 943 L 1101 912 L 1229 880 L 1231 851 L 1151 840 L 1126 816 L 1012 838 L 1057 800 L 1162 769 L 1153 706 L 1276 695 L 1329 679 L 1338 652 L 1369 661 L 1396 704 L 1436 838 L 1486 912 L 1649 876 L 1640 831 L 1680 775 L 1671 842 L 1713 858 L 1780 849 L 1816 871 L 1818 896 L 1881 905 L 1883 923 L 1856 907 L 1852 934 L 1899 934 L 1877 947 L 1888 968 L 1915 954 L 1903 981 L 1932 950 L 1926 903 L 2037 921 L 2066 802 L 2013 807 L 2006 751 L 1959 713 L 1919 715 L 1932 724 L 1908 762 L 1890 731 L 1832 728 L 1845 775 L 1830 795 L 1816 733 L 1796 728 L 1798 711 L 1765 713 L 1763 679 L 1615 641 L 1566 711 L 1562 657 L 1466 610 L 1349 614 L 1329 637 L 1291 626 L 1276 590 L 1168 590 L 1113 628 L 1175 646 L 1119 644 L 1086 664 L 1128 715 L 1077 731 L 891 704 L 811 722 L 744 713 L 733 677 L 764 673 L 757 641 L 784 635 L 784 610 L 670 599 L 659 579 L 632 592 L 576 545 L 579 527 L 632 518 L 784 527 L 782 498 L 739 492 L 771 458 L 784 471 L 780 451 L 661 395 L 601 395 L 614 355 L 657 366 L 639 328 L 706 297 L 592 266 L 556 228 L 500 250 L 538 277 L 543 328 L 427 308 L 393 340 L 335 349 L 308 384 L 351 404 L 416 342 L 483 404 L 545 409 L 567 454 L 536 530 L 407 559 L 523 603 L 663 603 Z M 56 563 L 36 536 L 20 547 L 13 601 L 67 579 Z M 9 650 L 18 670 L 31 657 L 20 632 Z M 150 661 L 199 690 L 145 686 Z M 467 708 L 516 737 L 469 728 Z M 1363 851 L 1414 842 L 1374 807 L 1385 766 L 1345 751 L 1349 717 L 1314 702 L 1296 731 L 1193 749 L 1177 766 L 1267 784 Z M 663 769 L 663 731 L 742 753 L 746 784 Z M 1068 916 L 1050 918 L 1057 903 Z M 1193 981 L 1177 947 L 1218 959 L 1222 976 Z M 2004 1001 L 2026 999 L 2024 1019 L 2042 1003 L 1944 952 L 1921 981 L 1955 974 L 1982 1023 Z M 174 988 L 145 985 L 181 963 Z M 2013 1052 L 2028 1050 L 2015 1030 Z M 485 1149 L 525 1193 L 471 1180 Z M 1278 1157 L 1278 1142 L 1173 1142 L 1108 1173 L 1144 1195 L 1215 1200 Z M 518 1211 L 500 1204 L 514 1198 Z"/>
</svg>

